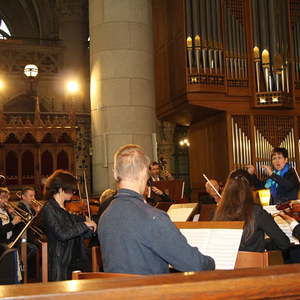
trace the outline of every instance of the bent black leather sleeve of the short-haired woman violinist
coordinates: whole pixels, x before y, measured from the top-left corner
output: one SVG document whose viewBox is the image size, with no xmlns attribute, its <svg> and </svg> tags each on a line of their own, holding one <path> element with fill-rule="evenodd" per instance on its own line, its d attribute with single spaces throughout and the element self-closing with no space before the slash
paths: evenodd
<svg viewBox="0 0 300 300">
<path fill-rule="evenodd" d="M 51 231 L 60 241 L 75 238 L 90 230 L 84 222 L 78 222 L 76 224 L 59 222 L 59 218 L 56 218 L 55 212 L 49 209 L 49 207 L 43 209 L 42 213 L 44 227 L 47 231 Z"/>
</svg>

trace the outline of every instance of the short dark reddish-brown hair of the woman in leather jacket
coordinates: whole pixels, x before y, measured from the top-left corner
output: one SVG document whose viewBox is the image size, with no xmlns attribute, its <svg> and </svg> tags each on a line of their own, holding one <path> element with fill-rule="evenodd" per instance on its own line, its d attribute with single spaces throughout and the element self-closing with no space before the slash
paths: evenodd
<svg viewBox="0 0 300 300">
<path fill-rule="evenodd" d="M 59 189 L 63 191 L 75 191 L 77 188 L 77 179 L 70 173 L 64 170 L 56 170 L 47 178 L 45 184 L 45 200 L 52 199 Z"/>
</svg>

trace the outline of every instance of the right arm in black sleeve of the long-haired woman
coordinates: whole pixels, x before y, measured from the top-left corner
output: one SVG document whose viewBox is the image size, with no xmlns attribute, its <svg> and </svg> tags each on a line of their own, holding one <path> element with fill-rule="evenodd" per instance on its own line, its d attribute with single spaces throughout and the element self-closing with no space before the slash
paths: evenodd
<svg viewBox="0 0 300 300">
<path fill-rule="evenodd" d="M 286 250 L 290 246 L 290 240 L 285 233 L 279 228 L 272 216 L 264 209 L 260 212 L 258 227 L 261 228 L 271 239 L 272 244 L 280 250 Z M 270 245 L 270 248 L 272 245 Z"/>
</svg>

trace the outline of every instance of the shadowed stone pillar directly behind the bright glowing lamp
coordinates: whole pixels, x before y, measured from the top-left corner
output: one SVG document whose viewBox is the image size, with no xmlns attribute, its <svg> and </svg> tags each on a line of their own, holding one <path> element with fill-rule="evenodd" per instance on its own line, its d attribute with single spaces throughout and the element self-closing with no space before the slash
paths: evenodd
<svg viewBox="0 0 300 300">
<path fill-rule="evenodd" d="M 80 91 L 74 95 L 75 111 L 88 111 L 89 60 L 88 60 L 88 8 L 86 0 L 58 0 L 59 38 L 63 42 L 64 102 L 62 110 L 71 109 L 71 99 L 66 90 L 68 81 L 77 81 Z"/>
</svg>

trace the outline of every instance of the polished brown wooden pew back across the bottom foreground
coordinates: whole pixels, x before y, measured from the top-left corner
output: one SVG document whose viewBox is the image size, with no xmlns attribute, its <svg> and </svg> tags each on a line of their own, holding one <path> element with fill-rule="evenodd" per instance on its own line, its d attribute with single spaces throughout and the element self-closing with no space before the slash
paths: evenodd
<svg viewBox="0 0 300 300">
<path fill-rule="evenodd" d="M 3 299 L 299 299 L 300 265 L 0 286 Z"/>
</svg>

